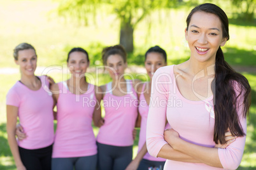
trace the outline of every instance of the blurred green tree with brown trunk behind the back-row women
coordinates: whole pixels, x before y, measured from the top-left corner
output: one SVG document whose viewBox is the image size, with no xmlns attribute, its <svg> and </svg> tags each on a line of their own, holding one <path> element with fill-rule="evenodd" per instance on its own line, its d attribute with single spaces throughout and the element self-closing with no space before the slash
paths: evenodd
<svg viewBox="0 0 256 170">
<path fill-rule="evenodd" d="M 120 44 L 133 51 L 133 31 L 154 10 L 173 8 L 178 0 L 62 0 L 59 15 L 75 16 L 87 24 L 98 12 L 112 13 L 120 20 Z"/>
</svg>

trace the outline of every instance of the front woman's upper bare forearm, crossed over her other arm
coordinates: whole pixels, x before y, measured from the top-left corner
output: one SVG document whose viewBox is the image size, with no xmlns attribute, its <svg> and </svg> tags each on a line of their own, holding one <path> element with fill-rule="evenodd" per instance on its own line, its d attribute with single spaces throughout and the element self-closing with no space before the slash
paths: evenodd
<svg viewBox="0 0 256 170">
<path fill-rule="evenodd" d="M 218 148 L 202 147 L 181 139 L 173 145 L 173 148 L 199 160 L 199 162 L 203 162 L 209 166 L 223 168 L 218 157 Z"/>
</svg>

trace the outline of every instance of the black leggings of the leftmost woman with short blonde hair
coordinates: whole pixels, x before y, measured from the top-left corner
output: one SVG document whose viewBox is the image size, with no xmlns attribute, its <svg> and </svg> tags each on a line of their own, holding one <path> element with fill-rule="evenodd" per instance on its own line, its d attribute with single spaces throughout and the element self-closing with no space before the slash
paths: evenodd
<svg viewBox="0 0 256 170">
<path fill-rule="evenodd" d="M 20 159 L 27 170 L 50 170 L 52 163 L 52 145 L 39 149 L 18 147 Z"/>
</svg>

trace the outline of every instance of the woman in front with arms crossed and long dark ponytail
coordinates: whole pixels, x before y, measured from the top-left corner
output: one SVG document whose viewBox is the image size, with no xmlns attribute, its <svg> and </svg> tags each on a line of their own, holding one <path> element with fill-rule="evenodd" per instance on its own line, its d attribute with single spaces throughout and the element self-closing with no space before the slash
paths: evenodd
<svg viewBox="0 0 256 170">
<path fill-rule="evenodd" d="M 250 85 L 220 48 L 229 40 L 227 15 L 215 4 L 197 6 L 187 17 L 185 37 L 190 59 L 153 76 L 150 102 L 159 104 L 148 115 L 148 152 L 168 159 L 164 169 L 236 169 L 245 147 Z M 166 117 L 172 129 L 164 131 Z"/>
</svg>

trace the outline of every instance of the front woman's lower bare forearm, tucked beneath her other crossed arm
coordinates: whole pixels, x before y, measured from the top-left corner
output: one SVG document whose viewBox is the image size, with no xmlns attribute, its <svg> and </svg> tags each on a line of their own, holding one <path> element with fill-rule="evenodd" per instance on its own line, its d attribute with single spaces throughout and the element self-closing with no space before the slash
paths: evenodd
<svg viewBox="0 0 256 170">
<path fill-rule="evenodd" d="M 178 150 L 174 150 L 169 144 L 164 145 L 157 157 L 162 157 L 164 159 L 176 160 L 180 162 L 193 162 L 193 163 L 201 163 L 200 160 L 191 157 L 188 154 L 184 154 L 179 152 Z"/>
</svg>

